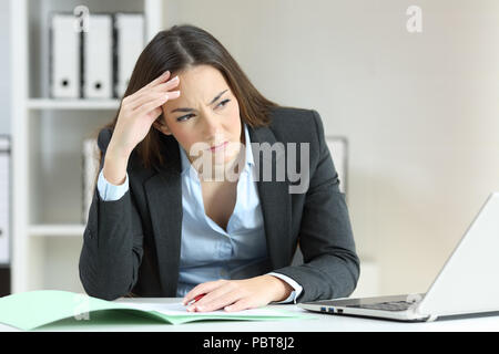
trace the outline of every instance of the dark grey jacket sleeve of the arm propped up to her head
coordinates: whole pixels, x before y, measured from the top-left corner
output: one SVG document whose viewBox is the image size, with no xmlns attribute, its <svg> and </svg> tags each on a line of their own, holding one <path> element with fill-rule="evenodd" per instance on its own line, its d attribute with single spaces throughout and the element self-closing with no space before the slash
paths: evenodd
<svg viewBox="0 0 499 354">
<path fill-rule="evenodd" d="M 103 154 L 100 170 L 111 135 L 110 129 L 99 134 L 98 145 Z M 86 293 L 114 300 L 131 292 L 138 280 L 142 244 L 142 222 L 132 190 L 118 200 L 104 201 L 94 188 L 79 263 Z"/>
</svg>

